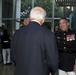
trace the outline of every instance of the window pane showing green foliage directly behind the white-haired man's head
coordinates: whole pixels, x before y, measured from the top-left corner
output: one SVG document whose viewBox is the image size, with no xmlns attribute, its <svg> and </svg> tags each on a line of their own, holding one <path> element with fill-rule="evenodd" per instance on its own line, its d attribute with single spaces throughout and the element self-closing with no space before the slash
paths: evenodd
<svg viewBox="0 0 76 75">
<path fill-rule="evenodd" d="M 47 12 L 47 17 L 52 17 L 52 0 L 35 0 L 35 6 L 43 7 Z"/>
</svg>

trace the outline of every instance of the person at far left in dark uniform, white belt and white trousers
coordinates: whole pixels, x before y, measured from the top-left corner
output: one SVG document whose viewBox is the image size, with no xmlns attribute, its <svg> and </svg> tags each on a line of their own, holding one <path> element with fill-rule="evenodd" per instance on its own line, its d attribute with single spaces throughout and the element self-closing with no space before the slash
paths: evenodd
<svg viewBox="0 0 76 75">
<path fill-rule="evenodd" d="M 4 29 L 1 37 L 3 64 L 10 64 L 10 35 Z"/>
</svg>

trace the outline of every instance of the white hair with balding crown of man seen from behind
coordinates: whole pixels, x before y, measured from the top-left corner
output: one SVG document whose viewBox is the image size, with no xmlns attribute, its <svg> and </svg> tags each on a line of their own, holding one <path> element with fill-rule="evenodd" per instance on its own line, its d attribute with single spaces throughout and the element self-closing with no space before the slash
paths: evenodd
<svg viewBox="0 0 76 75">
<path fill-rule="evenodd" d="M 46 11 L 42 7 L 34 7 L 30 11 L 30 18 L 43 20 L 46 17 Z"/>
</svg>

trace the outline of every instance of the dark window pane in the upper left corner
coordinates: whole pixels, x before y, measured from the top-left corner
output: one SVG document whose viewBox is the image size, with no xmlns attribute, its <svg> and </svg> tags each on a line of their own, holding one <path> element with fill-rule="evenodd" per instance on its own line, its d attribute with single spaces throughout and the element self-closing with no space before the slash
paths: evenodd
<svg viewBox="0 0 76 75">
<path fill-rule="evenodd" d="M 12 18 L 13 0 L 2 0 L 2 18 Z"/>
</svg>

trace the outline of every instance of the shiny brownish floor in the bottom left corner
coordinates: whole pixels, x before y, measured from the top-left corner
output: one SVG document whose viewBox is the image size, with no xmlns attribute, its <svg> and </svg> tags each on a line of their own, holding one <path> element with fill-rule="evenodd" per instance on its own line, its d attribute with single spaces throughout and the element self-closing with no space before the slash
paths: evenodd
<svg viewBox="0 0 76 75">
<path fill-rule="evenodd" d="M 0 63 L 0 75 L 14 75 L 14 66 Z"/>
</svg>

